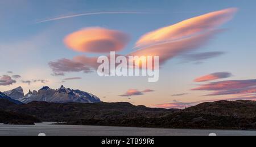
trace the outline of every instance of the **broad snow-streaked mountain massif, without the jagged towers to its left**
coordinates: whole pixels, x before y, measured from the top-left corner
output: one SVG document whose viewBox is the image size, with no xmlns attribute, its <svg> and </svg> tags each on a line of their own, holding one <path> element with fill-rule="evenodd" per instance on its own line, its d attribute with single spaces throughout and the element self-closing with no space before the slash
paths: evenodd
<svg viewBox="0 0 256 147">
<path fill-rule="evenodd" d="M 30 103 L 32 101 L 54 102 L 54 103 L 97 103 L 101 102 L 100 98 L 93 94 L 82 92 L 81 90 L 73 90 L 65 88 L 63 85 L 59 89 L 51 89 L 49 87 L 43 87 L 36 92 L 28 92 L 26 96 L 19 101 L 23 103 Z"/>
</svg>

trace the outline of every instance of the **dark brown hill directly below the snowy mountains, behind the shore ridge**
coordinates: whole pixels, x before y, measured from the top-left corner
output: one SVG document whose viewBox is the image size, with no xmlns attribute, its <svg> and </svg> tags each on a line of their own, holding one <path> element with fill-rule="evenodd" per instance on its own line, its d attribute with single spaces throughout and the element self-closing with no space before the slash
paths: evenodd
<svg viewBox="0 0 256 147">
<path fill-rule="evenodd" d="M 31 102 L 26 105 L 6 107 L 14 112 L 36 116 L 43 122 L 68 122 L 80 119 L 117 119 L 160 117 L 172 113 L 174 110 L 151 109 L 145 106 L 134 106 L 130 103 L 48 103 Z"/>
</svg>

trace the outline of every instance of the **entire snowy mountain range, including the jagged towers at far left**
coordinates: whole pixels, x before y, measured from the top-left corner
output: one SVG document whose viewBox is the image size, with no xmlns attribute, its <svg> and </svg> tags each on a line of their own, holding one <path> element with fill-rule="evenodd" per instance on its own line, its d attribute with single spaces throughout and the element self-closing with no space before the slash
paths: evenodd
<svg viewBox="0 0 256 147">
<path fill-rule="evenodd" d="M 93 94 L 83 92 L 81 90 L 73 90 L 70 88 L 65 88 L 63 85 L 59 89 L 51 89 L 49 87 L 43 87 L 40 90 L 31 90 L 24 95 L 22 87 L 18 87 L 6 92 L 3 92 L 6 98 L 11 99 L 11 101 L 30 103 L 33 101 L 39 102 L 53 102 L 53 103 L 97 103 L 101 102 L 100 98 L 94 96 Z M 3 97 L 4 97 L 3 96 Z"/>
</svg>

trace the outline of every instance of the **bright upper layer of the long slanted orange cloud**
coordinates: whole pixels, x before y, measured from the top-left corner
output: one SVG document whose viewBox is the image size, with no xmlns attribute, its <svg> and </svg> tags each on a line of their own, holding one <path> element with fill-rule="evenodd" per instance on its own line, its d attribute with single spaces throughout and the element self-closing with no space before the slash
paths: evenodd
<svg viewBox="0 0 256 147">
<path fill-rule="evenodd" d="M 176 41 L 185 37 L 195 36 L 198 33 L 204 33 L 232 19 L 236 11 L 237 8 L 228 8 L 157 29 L 142 36 L 137 41 L 136 47 L 150 46 L 166 41 Z"/>
</svg>

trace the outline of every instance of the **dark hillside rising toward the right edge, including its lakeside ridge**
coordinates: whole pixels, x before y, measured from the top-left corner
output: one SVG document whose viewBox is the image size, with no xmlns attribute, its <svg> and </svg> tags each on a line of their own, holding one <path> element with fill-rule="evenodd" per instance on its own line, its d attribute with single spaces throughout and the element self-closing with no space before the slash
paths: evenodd
<svg viewBox="0 0 256 147">
<path fill-rule="evenodd" d="M 157 117 L 138 115 L 135 118 L 80 119 L 64 124 L 193 128 L 193 129 L 256 129 L 255 101 L 218 101 L 202 103 L 185 110 L 176 110 Z"/>
</svg>

